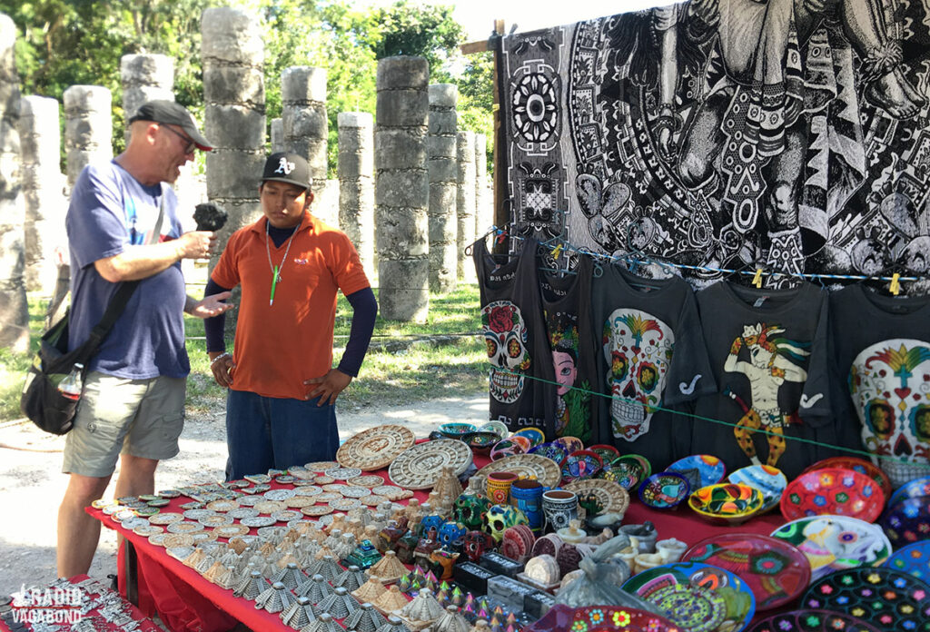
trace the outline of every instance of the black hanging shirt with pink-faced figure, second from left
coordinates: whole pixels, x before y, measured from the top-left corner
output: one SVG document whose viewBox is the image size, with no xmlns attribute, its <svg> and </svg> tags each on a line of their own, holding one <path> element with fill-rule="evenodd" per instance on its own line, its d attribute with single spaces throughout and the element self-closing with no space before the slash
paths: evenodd
<svg viewBox="0 0 930 632">
<path fill-rule="evenodd" d="M 582 255 L 574 273 L 539 272 L 542 311 L 559 386 L 555 434 L 591 441 L 591 388 L 597 379 L 591 333 L 591 257 Z"/>
</svg>

